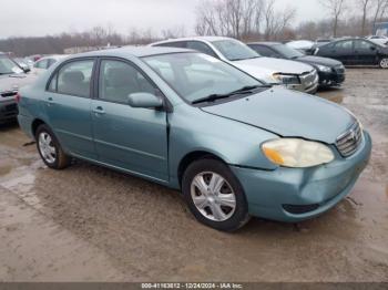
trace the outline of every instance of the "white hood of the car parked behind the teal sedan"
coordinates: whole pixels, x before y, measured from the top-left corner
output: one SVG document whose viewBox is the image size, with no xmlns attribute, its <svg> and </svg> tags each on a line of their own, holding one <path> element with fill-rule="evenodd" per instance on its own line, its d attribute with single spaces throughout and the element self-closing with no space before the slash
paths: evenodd
<svg viewBox="0 0 388 290">
<path fill-rule="evenodd" d="M 272 76 L 274 73 L 303 74 L 313 70 L 310 65 L 304 63 L 272 58 L 257 58 L 251 60 L 234 61 L 233 64 L 255 77 L 263 75 L 263 72 L 265 72 L 268 79 L 268 83 L 277 82 Z"/>
</svg>

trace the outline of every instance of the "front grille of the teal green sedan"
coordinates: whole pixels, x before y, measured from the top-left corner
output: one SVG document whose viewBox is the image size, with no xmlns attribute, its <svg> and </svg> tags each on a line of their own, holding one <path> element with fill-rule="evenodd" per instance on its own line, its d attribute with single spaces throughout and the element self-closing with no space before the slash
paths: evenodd
<svg viewBox="0 0 388 290">
<path fill-rule="evenodd" d="M 336 146 L 344 157 L 349 157 L 356 153 L 363 141 L 363 130 L 359 123 L 355 124 L 337 138 Z"/>
</svg>

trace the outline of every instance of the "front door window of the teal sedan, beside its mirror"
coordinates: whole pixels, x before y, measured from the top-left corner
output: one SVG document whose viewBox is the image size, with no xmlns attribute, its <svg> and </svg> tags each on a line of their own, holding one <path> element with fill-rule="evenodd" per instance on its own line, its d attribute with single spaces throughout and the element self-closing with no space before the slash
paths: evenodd
<svg viewBox="0 0 388 290">
<path fill-rule="evenodd" d="M 154 85 L 136 68 L 122 61 L 101 61 L 99 80 L 101 100 L 127 104 L 130 94 L 156 94 Z"/>
</svg>

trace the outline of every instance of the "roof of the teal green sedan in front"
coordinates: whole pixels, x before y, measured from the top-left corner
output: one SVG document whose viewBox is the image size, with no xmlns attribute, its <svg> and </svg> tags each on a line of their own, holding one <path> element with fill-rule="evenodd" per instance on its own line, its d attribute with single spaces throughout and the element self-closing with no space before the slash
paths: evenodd
<svg viewBox="0 0 388 290">
<path fill-rule="evenodd" d="M 186 50 L 186 49 L 175 49 L 175 48 L 153 48 L 153 46 L 123 46 L 119 49 L 109 49 L 109 50 L 98 50 L 98 51 L 91 51 L 91 52 L 84 52 L 74 54 L 71 56 L 122 56 L 122 58 L 129 58 L 129 56 L 136 56 L 136 58 L 143 58 L 143 56 L 152 56 L 152 55 L 159 55 L 159 54 L 170 54 L 170 53 L 182 53 L 182 52 L 193 52 L 193 50 Z"/>
</svg>

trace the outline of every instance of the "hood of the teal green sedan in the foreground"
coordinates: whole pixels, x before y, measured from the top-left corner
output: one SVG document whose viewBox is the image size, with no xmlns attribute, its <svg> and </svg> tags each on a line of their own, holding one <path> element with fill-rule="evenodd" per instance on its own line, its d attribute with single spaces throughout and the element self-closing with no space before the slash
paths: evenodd
<svg viewBox="0 0 388 290">
<path fill-rule="evenodd" d="M 327 144 L 334 144 L 355 122 L 350 113 L 335 103 L 282 87 L 202 110 L 283 137 Z"/>
</svg>

